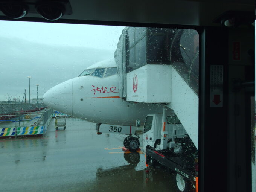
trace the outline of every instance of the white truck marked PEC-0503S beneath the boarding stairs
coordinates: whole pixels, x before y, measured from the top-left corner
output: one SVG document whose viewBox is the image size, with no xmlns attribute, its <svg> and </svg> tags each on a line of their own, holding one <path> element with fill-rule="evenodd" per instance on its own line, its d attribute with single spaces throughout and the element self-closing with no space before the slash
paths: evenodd
<svg viewBox="0 0 256 192">
<path fill-rule="evenodd" d="M 169 108 L 146 117 L 143 151 L 147 167 L 160 165 L 176 174 L 178 191 L 198 191 L 198 150 Z"/>
</svg>

